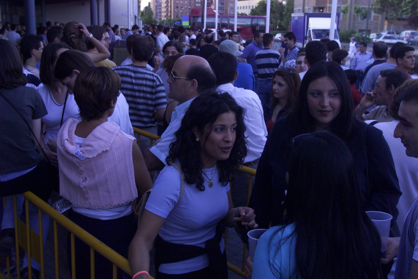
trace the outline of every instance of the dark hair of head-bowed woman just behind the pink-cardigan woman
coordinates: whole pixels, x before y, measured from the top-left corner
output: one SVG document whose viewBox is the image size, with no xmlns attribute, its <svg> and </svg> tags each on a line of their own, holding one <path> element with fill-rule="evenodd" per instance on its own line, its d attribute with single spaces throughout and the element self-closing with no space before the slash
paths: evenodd
<svg viewBox="0 0 418 279">
<path fill-rule="evenodd" d="M 73 70 L 82 72 L 88 67 L 94 67 L 92 60 L 84 52 L 69 49 L 61 53 L 55 64 L 54 76 L 58 80 L 69 77 Z"/>
</svg>

